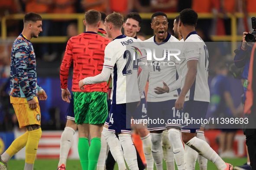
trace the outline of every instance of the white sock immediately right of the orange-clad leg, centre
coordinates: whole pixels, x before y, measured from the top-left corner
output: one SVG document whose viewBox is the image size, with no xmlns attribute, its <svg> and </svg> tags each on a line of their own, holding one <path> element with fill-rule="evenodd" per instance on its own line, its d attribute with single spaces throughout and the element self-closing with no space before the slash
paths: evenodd
<svg viewBox="0 0 256 170">
<path fill-rule="evenodd" d="M 147 163 L 147 170 L 153 170 L 154 169 L 154 158 L 152 156 L 151 152 L 151 136 L 150 133 L 146 135 L 143 138 L 140 138 L 142 140 L 142 147 Z"/>
</svg>

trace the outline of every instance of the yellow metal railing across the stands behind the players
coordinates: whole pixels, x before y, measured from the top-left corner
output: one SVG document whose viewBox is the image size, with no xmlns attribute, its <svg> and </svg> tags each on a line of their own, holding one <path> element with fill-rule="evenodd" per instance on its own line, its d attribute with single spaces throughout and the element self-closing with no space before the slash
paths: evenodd
<svg viewBox="0 0 256 170">
<path fill-rule="evenodd" d="M 142 19 L 151 19 L 153 13 L 139 13 Z M 82 13 L 74 13 L 74 14 L 40 14 L 43 19 L 75 19 L 78 22 L 78 34 L 81 34 L 84 32 L 84 14 Z M 175 19 L 176 16 L 179 15 L 179 13 L 167 13 L 166 14 L 168 19 Z M 256 13 L 249 13 L 249 16 L 256 16 Z M 1 21 L 1 39 L 6 40 L 7 38 L 7 27 L 6 22 L 9 19 L 18 19 L 22 20 L 24 17 L 24 14 L 13 14 L 13 15 L 7 15 L 0 19 Z M 198 19 L 213 19 L 215 17 L 223 18 L 223 14 L 218 14 L 215 16 L 212 13 L 198 13 Z M 237 18 L 243 18 L 243 13 L 235 13 L 231 14 L 228 13 L 227 17 L 231 19 L 231 35 L 225 35 L 225 36 L 217 36 L 213 35 L 211 36 L 211 39 L 213 41 L 231 41 L 231 42 L 240 42 L 242 40 L 242 35 L 237 35 Z M 251 28 L 250 28 L 251 29 Z M 47 36 L 47 37 L 40 37 L 39 38 L 33 38 L 32 42 L 36 43 L 63 43 L 67 42 L 68 37 L 67 36 Z M 237 49 L 237 44 L 232 43 L 231 50 Z"/>
</svg>

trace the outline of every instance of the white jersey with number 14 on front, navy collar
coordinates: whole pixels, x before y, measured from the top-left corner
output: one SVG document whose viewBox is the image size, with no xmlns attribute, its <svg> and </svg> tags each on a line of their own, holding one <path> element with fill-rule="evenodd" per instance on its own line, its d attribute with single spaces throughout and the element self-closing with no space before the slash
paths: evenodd
<svg viewBox="0 0 256 170">
<path fill-rule="evenodd" d="M 147 65 L 149 66 L 149 91 L 147 95 L 147 101 L 149 102 L 160 102 L 167 101 L 178 98 L 178 90 L 171 91 L 164 94 L 156 94 L 154 88 L 163 87 L 163 82 L 168 86 L 172 85 L 178 79 L 178 72 L 176 69 L 176 63 L 178 60 L 174 56 L 167 58 L 167 49 L 179 49 L 182 50 L 182 44 L 177 38 L 172 35 L 168 35 L 164 42 L 158 44 L 155 41 L 155 36 L 145 40 L 143 43 L 145 47 L 149 47 L 153 52 L 155 49 L 156 58 L 163 58 L 165 60 L 158 61 L 152 57 L 152 60 L 147 60 Z M 166 42 L 166 43 L 165 43 Z M 170 43 L 172 42 L 172 43 Z M 175 42 L 175 43 L 174 43 Z M 176 43 L 177 42 L 177 43 Z M 164 51 L 166 49 L 166 51 Z M 177 52 L 174 52 L 177 53 Z M 179 55 L 177 56 L 179 57 Z"/>
</svg>

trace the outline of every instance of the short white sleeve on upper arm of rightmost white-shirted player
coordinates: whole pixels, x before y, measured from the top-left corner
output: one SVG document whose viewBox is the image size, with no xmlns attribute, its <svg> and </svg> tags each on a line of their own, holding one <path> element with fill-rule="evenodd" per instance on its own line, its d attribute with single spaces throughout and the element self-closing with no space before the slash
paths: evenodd
<svg viewBox="0 0 256 170">
<path fill-rule="evenodd" d="M 198 60 L 199 58 L 199 43 L 200 42 L 185 42 L 184 43 L 184 53 L 186 61 Z"/>
</svg>

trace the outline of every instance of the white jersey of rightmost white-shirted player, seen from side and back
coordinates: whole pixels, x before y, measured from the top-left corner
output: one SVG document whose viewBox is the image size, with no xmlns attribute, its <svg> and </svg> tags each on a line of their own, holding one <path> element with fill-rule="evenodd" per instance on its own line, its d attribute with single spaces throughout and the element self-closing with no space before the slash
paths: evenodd
<svg viewBox="0 0 256 170">
<path fill-rule="evenodd" d="M 187 62 L 198 60 L 198 70 L 195 81 L 186 94 L 185 101 L 206 101 L 210 102 L 210 90 L 208 86 L 208 49 L 204 41 L 195 31 L 191 32 L 185 39 L 180 55 L 181 89 L 185 83 L 185 76 L 188 72 Z"/>
</svg>

